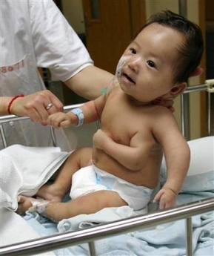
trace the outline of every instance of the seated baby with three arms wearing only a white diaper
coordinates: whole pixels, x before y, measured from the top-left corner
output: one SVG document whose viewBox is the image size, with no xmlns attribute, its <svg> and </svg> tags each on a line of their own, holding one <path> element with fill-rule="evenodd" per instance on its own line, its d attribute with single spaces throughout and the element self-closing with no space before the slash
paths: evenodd
<svg viewBox="0 0 214 256">
<path fill-rule="evenodd" d="M 92 151 L 81 148 L 71 154 L 55 182 L 38 192 L 50 201 L 20 197 L 19 209 L 33 205 L 31 209 L 56 222 L 104 207 L 143 209 L 158 185 L 163 154 L 167 180 L 155 200 L 160 209 L 175 206 L 189 168 L 190 149 L 172 111 L 153 101 L 181 94 L 202 53 L 198 25 L 170 10 L 152 16 L 124 51 L 116 78 L 103 95 L 67 114 L 49 116 L 47 123 L 56 128 L 100 119 L 101 129 L 93 136 Z M 58 202 L 71 177 L 72 200 Z M 48 190 L 60 196 L 47 197 Z"/>
</svg>

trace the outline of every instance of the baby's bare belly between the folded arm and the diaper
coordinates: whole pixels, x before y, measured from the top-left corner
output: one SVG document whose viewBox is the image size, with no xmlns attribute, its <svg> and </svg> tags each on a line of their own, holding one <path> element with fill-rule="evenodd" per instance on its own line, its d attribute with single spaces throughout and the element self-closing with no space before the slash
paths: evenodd
<svg viewBox="0 0 214 256">
<path fill-rule="evenodd" d="M 112 157 L 105 154 L 104 151 L 99 149 L 93 151 L 93 164 L 98 168 L 136 186 L 146 186 L 147 188 L 156 188 L 158 185 L 161 160 L 162 154 L 152 154 L 144 168 L 139 171 L 133 171 L 125 168 Z"/>
</svg>

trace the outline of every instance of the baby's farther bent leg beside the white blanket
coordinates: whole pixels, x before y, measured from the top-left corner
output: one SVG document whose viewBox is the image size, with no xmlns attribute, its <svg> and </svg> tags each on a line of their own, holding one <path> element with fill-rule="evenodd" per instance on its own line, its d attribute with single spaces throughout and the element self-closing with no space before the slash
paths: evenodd
<svg viewBox="0 0 214 256">
<path fill-rule="evenodd" d="M 37 192 L 45 200 L 61 202 L 64 195 L 70 191 L 73 174 L 80 168 L 90 165 L 92 148 L 79 148 L 61 165 L 53 183 L 47 183 Z"/>
</svg>

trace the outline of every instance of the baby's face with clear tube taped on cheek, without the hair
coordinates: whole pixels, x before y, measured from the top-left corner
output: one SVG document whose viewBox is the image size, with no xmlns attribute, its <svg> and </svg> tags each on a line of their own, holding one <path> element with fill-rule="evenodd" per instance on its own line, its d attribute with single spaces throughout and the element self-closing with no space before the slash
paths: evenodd
<svg viewBox="0 0 214 256">
<path fill-rule="evenodd" d="M 124 93 L 140 102 L 170 98 L 173 64 L 183 36 L 158 23 L 145 27 L 127 47 L 118 63 L 118 80 Z"/>
</svg>

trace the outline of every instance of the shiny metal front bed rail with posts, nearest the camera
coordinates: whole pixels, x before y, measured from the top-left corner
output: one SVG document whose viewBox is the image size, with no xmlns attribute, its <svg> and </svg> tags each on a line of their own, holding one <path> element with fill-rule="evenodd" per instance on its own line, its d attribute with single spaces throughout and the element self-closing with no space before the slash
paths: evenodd
<svg viewBox="0 0 214 256">
<path fill-rule="evenodd" d="M 76 246 L 81 243 L 88 243 L 90 255 L 95 256 L 95 240 L 100 240 L 102 238 L 124 234 L 127 232 L 134 232 L 139 229 L 147 229 L 162 223 L 169 223 L 171 221 L 185 219 L 187 256 L 192 256 L 193 227 L 191 217 L 196 214 L 213 211 L 213 209 L 214 197 L 211 197 L 194 203 L 178 206 L 175 209 L 157 211 L 153 214 L 130 217 L 124 220 L 118 220 L 113 223 L 107 223 L 76 232 L 55 234 L 49 237 L 42 237 L 36 240 L 16 243 L 10 246 L 2 246 L 0 248 L 0 255 L 36 255 L 44 252 L 53 252 L 56 249 L 61 249 L 68 246 Z"/>
</svg>

